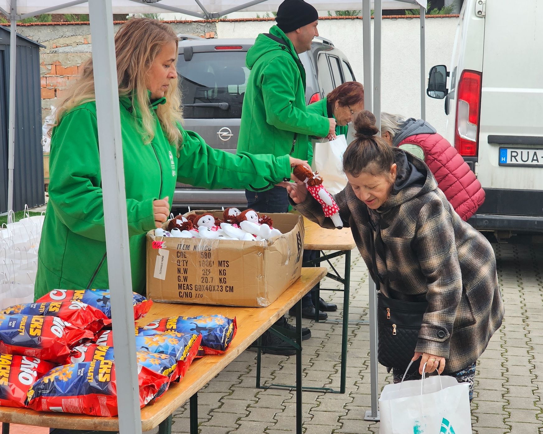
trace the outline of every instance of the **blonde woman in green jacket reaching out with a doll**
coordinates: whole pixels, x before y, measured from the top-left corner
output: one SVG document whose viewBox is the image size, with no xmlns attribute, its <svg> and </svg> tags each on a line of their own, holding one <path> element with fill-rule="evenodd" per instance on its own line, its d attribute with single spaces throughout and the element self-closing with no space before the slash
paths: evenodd
<svg viewBox="0 0 543 434">
<path fill-rule="evenodd" d="M 133 18 L 115 36 L 132 289 L 146 287 L 146 232 L 170 212 L 177 181 L 206 188 L 266 188 L 304 163 L 288 155 L 232 155 L 181 127 L 169 25 Z M 109 288 L 92 59 L 55 112 L 49 202 L 35 297 L 52 289 Z M 103 146 L 103 144 L 102 144 Z"/>
</svg>

